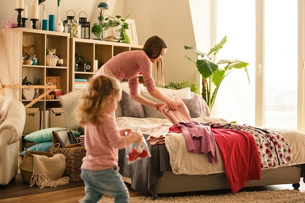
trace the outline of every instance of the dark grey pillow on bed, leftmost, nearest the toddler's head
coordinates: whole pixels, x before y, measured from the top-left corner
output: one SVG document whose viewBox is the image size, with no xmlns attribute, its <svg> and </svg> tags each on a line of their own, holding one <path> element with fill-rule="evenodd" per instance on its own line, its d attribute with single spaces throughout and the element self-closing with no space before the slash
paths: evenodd
<svg viewBox="0 0 305 203">
<path fill-rule="evenodd" d="M 145 118 L 142 104 L 130 98 L 130 95 L 122 91 L 121 106 L 125 117 Z"/>
</svg>

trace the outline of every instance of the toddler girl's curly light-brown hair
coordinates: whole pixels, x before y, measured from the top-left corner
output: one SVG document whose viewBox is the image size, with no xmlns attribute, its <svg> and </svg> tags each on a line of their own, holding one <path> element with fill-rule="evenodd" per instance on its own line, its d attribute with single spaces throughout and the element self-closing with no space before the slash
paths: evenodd
<svg viewBox="0 0 305 203">
<path fill-rule="evenodd" d="M 78 108 L 77 121 L 80 126 L 90 122 L 99 125 L 104 122 L 101 116 L 105 110 L 107 97 L 121 92 L 118 81 L 111 76 L 99 76 L 90 79 L 85 92 L 82 93 Z"/>
</svg>

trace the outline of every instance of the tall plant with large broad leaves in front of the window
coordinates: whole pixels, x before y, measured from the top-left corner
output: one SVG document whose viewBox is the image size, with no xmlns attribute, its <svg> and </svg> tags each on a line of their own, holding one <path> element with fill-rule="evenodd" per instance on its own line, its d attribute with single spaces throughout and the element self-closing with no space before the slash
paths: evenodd
<svg viewBox="0 0 305 203">
<path fill-rule="evenodd" d="M 227 36 L 225 36 L 219 44 L 211 48 L 208 54 L 203 53 L 195 49 L 194 47 L 185 46 L 185 49 L 190 49 L 194 51 L 199 58 L 194 60 L 186 56 L 189 60 L 194 61 L 199 73 L 202 76 L 202 97 L 206 101 L 210 110 L 212 110 L 214 106 L 216 95 L 221 85 L 221 82 L 229 73 L 231 73 L 231 71 L 233 71 L 234 69 L 245 69 L 250 83 L 250 78 L 247 70 L 247 65 L 249 65 L 249 63 L 243 62 L 239 59 L 222 59 L 218 62 L 215 62 L 218 51 L 223 47 L 226 42 Z M 211 57 L 210 55 L 214 56 Z M 223 69 L 219 67 L 220 64 L 224 65 Z M 215 86 L 213 87 L 212 84 L 214 84 Z"/>
</svg>

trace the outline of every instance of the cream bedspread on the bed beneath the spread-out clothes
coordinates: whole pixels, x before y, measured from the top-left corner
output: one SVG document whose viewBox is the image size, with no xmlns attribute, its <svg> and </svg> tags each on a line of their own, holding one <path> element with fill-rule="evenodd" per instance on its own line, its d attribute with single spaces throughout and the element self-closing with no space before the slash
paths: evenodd
<svg viewBox="0 0 305 203">
<path fill-rule="evenodd" d="M 213 122 L 222 121 L 227 122 L 224 119 L 217 118 L 195 118 L 198 122 Z M 116 118 L 116 122 L 119 128 L 131 128 L 133 131 L 140 129 L 144 134 L 150 134 L 153 129 L 162 124 L 171 125 L 167 119 L 156 118 L 130 118 L 119 117 Z M 270 128 L 269 128 L 270 129 Z M 305 163 L 305 135 L 297 130 L 284 130 L 284 129 L 272 129 L 278 131 L 285 137 L 288 142 L 293 160 L 287 164 L 283 164 L 276 167 L 290 166 Z M 182 133 L 168 133 L 165 139 L 166 149 L 169 152 L 170 165 L 174 174 L 186 174 L 186 175 L 208 175 L 224 173 L 223 162 L 220 156 L 220 152 L 217 147 L 217 153 L 219 162 L 210 163 L 207 154 L 193 154 L 187 150 L 185 138 Z"/>
</svg>

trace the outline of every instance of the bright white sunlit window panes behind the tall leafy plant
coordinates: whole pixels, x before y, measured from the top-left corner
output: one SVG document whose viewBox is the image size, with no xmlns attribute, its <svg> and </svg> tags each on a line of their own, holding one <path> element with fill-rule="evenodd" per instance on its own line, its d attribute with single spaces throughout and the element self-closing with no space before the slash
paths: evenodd
<svg viewBox="0 0 305 203">
<path fill-rule="evenodd" d="M 256 1 L 264 4 L 264 11 L 258 12 L 264 16 L 261 27 L 255 26 Z M 255 116 L 261 111 L 264 126 L 296 129 L 297 0 L 256 1 L 217 1 L 216 43 L 227 36 L 218 59 L 238 58 L 250 63 L 250 84 L 244 70 L 234 70 L 221 84 L 212 112 L 228 121 L 256 125 Z M 258 32 L 264 33 L 264 42 L 256 43 Z M 261 50 L 256 52 L 256 46 Z M 262 54 L 264 60 L 260 72 L 256 54 Z M 264 78 L 258 82 L 263 91 L 255 94 L 256 74 L 262 73 Z M 262 109 L 255 108 L 255 99 L 262 101 Z"/>
</svg>

